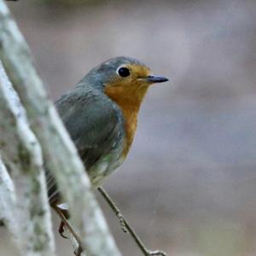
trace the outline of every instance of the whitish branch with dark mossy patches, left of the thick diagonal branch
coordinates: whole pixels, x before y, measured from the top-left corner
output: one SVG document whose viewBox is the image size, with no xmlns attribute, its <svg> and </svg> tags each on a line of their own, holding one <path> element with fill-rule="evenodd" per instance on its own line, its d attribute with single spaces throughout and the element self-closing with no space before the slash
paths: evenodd
<svg viewBox="0 0 256 256">
<path fill-rule="evenodd" d="M 16 235 L 22 255 L 55 255 L 41 148 L 1 62 L 0 99 L 0 149 L 14 177 L 16 192 L 14 197 L 14 189 L 2 168 L 4 184 L 10 189 L 10 201 L 6 201 L 7 195 L 1 198 L 2 206 L 9 210 L 4 219 L 9 231 Z"/>
</svg>

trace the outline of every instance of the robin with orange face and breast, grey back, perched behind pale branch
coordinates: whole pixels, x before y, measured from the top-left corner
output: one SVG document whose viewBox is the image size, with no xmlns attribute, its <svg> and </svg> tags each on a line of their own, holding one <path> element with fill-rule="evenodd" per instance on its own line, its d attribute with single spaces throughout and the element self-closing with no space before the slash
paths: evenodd
<svg viewBox="0 0 256 256">
<path fill-rule="evenodd" d="M 55 102 L 94 188 L 125 160 L 149 85 L 167 80 L 152 75 L 142 62 L 121 56 L 91 69 Z M 46 176 L 49 202 L 60 204 L 55 180 L 49 172 Z"/>
</svg>

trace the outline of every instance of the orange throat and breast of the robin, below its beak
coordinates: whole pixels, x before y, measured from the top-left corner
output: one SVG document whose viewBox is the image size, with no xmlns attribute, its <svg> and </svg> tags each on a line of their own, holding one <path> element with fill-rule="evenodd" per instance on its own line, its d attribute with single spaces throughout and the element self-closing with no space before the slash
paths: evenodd
<svg viewBox="0 0 256 256">
<path fill-rule="evenodd" d="M 137 113 L 143 102 L 148 86 L 137 88 L 136 86 L 107 86 L 106 95 L 121 108 L 125 118 L 125 148 L 123 157 L 126 156 L 135 132 L 137 130 Z"/>
</svg>

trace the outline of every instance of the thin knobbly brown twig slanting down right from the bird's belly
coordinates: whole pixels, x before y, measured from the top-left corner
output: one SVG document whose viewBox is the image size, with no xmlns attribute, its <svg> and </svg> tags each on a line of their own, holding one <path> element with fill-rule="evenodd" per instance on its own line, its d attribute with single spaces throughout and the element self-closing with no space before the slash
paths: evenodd
<svg viewBox="0 0 256 256">
<path fill-rule="evenodd" d="M 102 197 L 108 202 L 109 207 L 113 210 L 115 215 L 119 218 L 119 222 L 122 226 L 122 230 L 125 231 L 125 233 L 129 233 L 132 237 L 132 239 L 137 243 L 137 246 L 140 248 L 140 250 L 143 252 L 145 256 L 166 256 L 166 253 L 162 251 L 150 251 L 147 247 L 143 244 L 143 241 L 137 236 L 136 232 L 131 228 L 131 225 L 127 222 L 125 217 L 121 214 L 119 207 L 113 202 L 113 200 L 110 198 L 108 193 L 105 189 L 102 187 L 98 188 L 98 191 L 101 193 Z"/>
</svg>

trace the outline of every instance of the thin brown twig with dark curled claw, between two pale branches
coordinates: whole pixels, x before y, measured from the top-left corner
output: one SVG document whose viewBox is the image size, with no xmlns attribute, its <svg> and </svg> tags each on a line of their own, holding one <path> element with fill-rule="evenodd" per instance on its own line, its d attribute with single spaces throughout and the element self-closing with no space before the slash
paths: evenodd
<svg viewBox="0 0 256 256">
<path fill-rule="evenodd" d="M 67 219 L 69 217 L 67 209 L 59 207 L 57 205 L 52 206 L 52 207 L 55 209 L 55 212 L 61 218 L 61 224 L 60 224 L 60 228 L 59 228 L 60 235 L 64 238 L 67 238 L 67 236 L 63 235 L 63 233 L 65 231 L 64 228 L 66 227 L 67 230 L 72 234 L 74 239 L 78 242 L 79 247 L 77 248 L 77 250 L 74 253 L 75 253 L 75 255 L 80 256 L 81 253 L 83 252 L 82 243 L 81 243 L 81 240 L 80 240 L 79 236 L 77 235 L 76 231 L 73 229 L 73 226 L 69 223 L 69 221 Z"/>
</svg>

